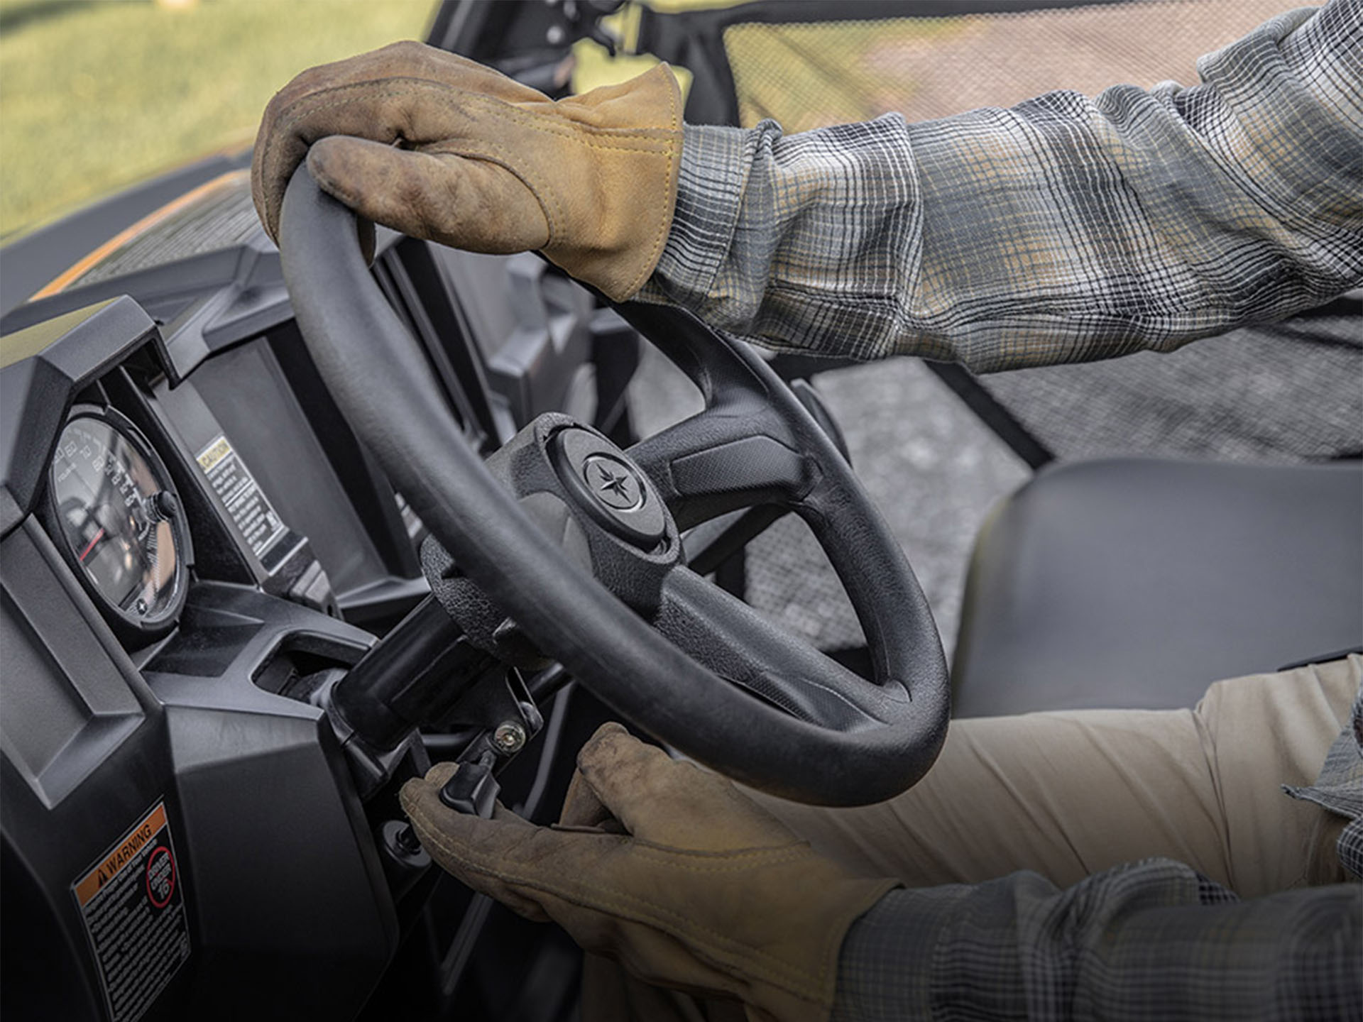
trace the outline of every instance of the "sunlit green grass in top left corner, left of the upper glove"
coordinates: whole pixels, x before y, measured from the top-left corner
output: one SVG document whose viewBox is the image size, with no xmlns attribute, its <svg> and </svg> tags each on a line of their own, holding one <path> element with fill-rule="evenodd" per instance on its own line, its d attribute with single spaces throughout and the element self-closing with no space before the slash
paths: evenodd
<svg viewBox="0 0 1363 1022">
<path fill-rule="evenodd" d="M 215 150 L 293 75 L 421 38 L 435 0 L 0 0 L 0 236 Z"/>
</svg>

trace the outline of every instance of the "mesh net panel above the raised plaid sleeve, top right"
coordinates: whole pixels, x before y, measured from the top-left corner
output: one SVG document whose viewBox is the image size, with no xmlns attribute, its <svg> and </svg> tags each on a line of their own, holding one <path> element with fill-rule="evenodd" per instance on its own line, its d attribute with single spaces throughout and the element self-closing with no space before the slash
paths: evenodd
<svg viewBox="0 0 1363 1022">
<path fill-rule="evenodd" d="M 910 4 L 905 4 L 906 7 Z M 801 25 L 739 23 L 724 33 L 744 127 L 786 131 L 898 110 L 910 121 L 1011 106 L 1054 89 L 1195 80 L 1197 59 L 1292 0 L 1161 0 L 953 18 Z M 830 16 L 856 5 L 829 4 Z"/>
</svg>

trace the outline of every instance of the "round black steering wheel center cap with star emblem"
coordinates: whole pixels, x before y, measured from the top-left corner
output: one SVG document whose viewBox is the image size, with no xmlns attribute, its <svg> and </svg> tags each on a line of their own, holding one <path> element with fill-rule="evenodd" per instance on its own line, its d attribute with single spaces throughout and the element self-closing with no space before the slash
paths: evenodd
<svg viewBox="0 0 1363 1022">
<path fill-rule="evenodd" d="M 559 477 L 575 503 L 623 540 L 653 548 L 667 533 L 657 492 L 624 452 L 589 429 L 568 428 L 553 437 Z"/>
</svg>

